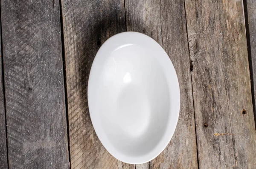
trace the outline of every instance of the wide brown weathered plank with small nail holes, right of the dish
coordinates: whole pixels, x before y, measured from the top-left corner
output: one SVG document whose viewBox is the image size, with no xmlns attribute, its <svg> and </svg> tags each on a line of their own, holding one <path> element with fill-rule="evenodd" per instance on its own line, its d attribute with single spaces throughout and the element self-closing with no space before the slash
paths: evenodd
<svg viewBox="0 0 256 169">
<path fill-rule="evenodd" d="M 254 168 L 256 134 L 241 0 L 185 0 L 199 168 Z"/>
</svg>

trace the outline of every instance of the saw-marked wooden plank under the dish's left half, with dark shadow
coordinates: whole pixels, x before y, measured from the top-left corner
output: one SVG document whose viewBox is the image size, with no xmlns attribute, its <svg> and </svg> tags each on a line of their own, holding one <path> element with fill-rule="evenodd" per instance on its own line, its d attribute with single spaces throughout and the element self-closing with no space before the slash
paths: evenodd
<svg viewBox="0 0 256 169">
<path fill-rule="evenodd" d="M 70 163 L 79 168 L 125 168 L 102 146 L 90 121 L 87 84 L 102 43 L 125 31 L 123 0 L 62 0 L 67 76 Z"/>
</svg>

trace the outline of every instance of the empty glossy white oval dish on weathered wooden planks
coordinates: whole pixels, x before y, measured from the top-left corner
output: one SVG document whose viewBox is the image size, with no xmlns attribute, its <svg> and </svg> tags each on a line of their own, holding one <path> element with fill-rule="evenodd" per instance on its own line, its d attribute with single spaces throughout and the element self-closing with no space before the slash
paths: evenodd
<svg viewBox="0 0 256 169">
<path fill-rule="evenodd" d="M 146 163 L 165 149 L 175 132 L 180 89 L 174 66 L 151 37 L 116 34 L 93 60 L 88 105 L 108 152 L 125 163 Z"/>
</svg>

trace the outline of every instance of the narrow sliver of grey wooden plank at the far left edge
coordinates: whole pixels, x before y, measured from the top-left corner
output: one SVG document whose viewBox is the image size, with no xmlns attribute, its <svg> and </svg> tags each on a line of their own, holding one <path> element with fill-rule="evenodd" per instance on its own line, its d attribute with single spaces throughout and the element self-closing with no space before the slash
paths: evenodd
<svg viewBox="0 0 256 169">
<path fill-rule="evenodd" d="M 1 32 L 0 32 L 1 34 Z M 0 39 L 0 43 L 1 39 Z M 0 45 L 0 168 L 7 169 L 6 115 L 3 94 L 2 46 Z"/>
</svg>

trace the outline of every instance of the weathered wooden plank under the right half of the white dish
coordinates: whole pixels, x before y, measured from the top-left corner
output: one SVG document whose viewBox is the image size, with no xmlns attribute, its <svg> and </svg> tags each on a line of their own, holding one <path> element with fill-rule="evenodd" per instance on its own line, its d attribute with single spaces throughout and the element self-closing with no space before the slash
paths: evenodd
<svg viewBox="0 0 256 169">
<path fill-rule="evenodd" d="M 174 64 L 180 83 L 180 116 L 166 149 L 141 169 L 198 168 L 186 18 L 183 0 L 125 0 L 127 30 L 154 38 Z"/>
</svg>

